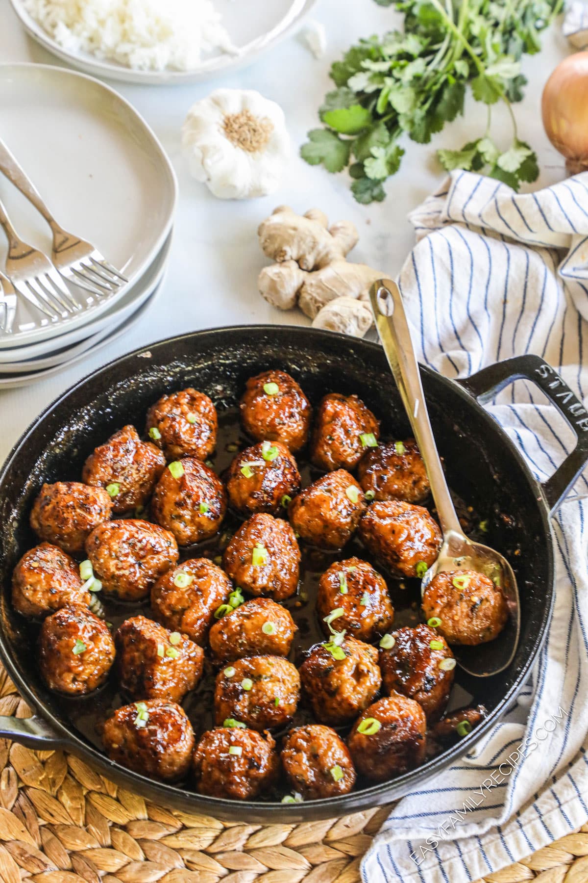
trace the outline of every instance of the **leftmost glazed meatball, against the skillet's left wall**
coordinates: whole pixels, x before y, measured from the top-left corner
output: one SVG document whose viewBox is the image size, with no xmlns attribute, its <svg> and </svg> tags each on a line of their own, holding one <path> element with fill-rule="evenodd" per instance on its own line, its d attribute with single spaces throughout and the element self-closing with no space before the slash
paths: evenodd
<svg viewBox="0 0 588 883">
<path fill-rule="evenodd" d="M 41 543 L 22 556 L 12 573 L 12 605 L 24 616 L 45 616 L 67 604 L 87 607 L 78 564 L 59 547 Z"/>
</svg>

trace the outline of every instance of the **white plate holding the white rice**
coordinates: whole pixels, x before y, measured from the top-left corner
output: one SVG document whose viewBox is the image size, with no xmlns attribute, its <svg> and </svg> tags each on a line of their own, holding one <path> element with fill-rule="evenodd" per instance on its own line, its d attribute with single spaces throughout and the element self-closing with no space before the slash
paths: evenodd
<svg viewBox="0 0 588 883">
<path fill-rule="evenodd" d="M 219 53 L 206 57 L 193 71 L 135 71 L 114 61 L 101 61 L 85 52 L 63 49 L 24 9 L 22 0 L 11 0 L 26 31 L 53 55 L 73 64 L 80 71 L 96 77 L 121 79 L 127 83 L 158 86 L 196 83 L 250 64 L 265 49 L 270 49 L 300 25 L 315 3 L 316 0 L 215 0 L 214 5 L 222 16 L 222 23 L 239 49 L 238 55 Z"/>
</svg>

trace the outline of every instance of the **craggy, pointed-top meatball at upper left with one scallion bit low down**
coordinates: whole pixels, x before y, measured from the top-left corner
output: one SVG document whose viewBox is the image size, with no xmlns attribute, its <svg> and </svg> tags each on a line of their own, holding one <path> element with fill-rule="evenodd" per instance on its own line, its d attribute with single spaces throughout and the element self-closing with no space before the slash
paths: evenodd
<svg viewBox="0 0 588 883">
<path fill-rule="evenodd" d="M 113 512 L 118 514 L 145 506 L 165 465 L 159 448 L 141 442 L 134 426 L 123 426 L 90 454 L 82 480 L 107 489 Z"/>
</svg>

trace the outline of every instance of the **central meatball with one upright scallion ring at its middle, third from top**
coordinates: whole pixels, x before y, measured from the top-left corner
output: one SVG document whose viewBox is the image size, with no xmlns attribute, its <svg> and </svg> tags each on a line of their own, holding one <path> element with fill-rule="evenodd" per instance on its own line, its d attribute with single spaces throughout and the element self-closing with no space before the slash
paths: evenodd
<svg viewBox="0 0 588 883">
<path fill-rule="evenodd" d="M 225 549 L 223 567 L 245 592 L 283 601 L 298 588 L 300 558 L 287 521 L 259 513 L 234 534 Z"/>
</svg>

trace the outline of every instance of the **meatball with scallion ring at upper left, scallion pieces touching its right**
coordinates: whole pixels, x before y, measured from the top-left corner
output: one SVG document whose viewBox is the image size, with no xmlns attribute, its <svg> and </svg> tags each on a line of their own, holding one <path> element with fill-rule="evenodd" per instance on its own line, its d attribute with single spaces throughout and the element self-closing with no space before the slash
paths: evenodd
<svg viewBox="0 0 588 883">
<path fill-rule="evenodd" d="M 151 590 L 155 618 L 204 644 L 214 613 L 227 602 L 233 584 L 208 558 L 190 558 L 167 570 Z"/>
</svg>

